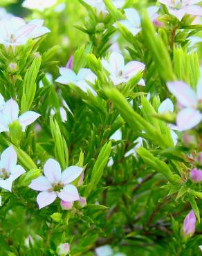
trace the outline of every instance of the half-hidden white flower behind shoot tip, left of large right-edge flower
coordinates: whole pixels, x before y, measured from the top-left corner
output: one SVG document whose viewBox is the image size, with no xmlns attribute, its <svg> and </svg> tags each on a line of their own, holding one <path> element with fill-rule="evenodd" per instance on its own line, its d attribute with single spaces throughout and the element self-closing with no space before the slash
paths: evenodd
<svg viewBox="0 0 202 256">
<path fill-rule="evenodd" d="M 166 113 L 166 112 L 173 112 L 173 111 L 174 111 L 174 104 L 172 103 L 172 100 L 170 100 L 169 98 L 167 98 L 166 100 L 163 100 L 163 102 L 161 102 L 160 106 L 158 107 L 158 113 Z M 169 125 L 169 128 L 170 128 L 170 133 L 172 136 L 173 143 L 174 145 L 176 145 L 176 143 L 178 142 L 178 136 L 174 132 L 176 127 L 174 125 Z"/>
</svg>

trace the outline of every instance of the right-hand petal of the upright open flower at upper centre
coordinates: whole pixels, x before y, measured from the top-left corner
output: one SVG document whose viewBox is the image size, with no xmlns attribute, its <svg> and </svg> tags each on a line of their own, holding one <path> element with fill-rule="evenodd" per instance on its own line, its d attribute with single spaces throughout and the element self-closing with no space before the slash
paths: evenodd
<svg viewBox="0 0 202 256">
<path fill-rule="evenodd" d="M 129 62 L 125 65 L 123 76 L 131 78 L 137 75 L 138 72 L 144 71 L 144 69 L 145 64 L 142 62 Z"/>
</svg>

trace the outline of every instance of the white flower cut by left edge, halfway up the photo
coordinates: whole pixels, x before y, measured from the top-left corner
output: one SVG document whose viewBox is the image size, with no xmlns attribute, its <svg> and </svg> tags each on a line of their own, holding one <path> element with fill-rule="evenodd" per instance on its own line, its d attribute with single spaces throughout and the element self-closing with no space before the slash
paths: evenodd
<svg viewBox="0 0 202 256">
<path fill-rule="evenodd" d="M 26 111 L 21 116 L 19 115 L 19 107 L 15 100 L 8 100 L 2 107 L 0 111 L 0 133 L 3 131 L 9 131 L 9 125 L 18 120 L 19 124 L 22 127 L 22 131 L 25 131 L 26 127 L 37 118 L 39 118 L 39 113 L 34 111 Z"/>
</svg>

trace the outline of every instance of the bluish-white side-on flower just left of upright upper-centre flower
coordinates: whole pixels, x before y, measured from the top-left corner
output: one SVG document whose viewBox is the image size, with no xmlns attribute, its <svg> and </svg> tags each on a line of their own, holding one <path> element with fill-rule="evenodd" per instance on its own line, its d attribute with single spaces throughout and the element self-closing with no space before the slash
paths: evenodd
<svg viewBox="0 0 202 256">
<path fill-rule="evenodd" d="M 60 76 L 57 78 L 56 82 L 60 84 L 75 84 L 83 91 L 90 90 L 94 95 L 95 91 L 92 87 L 86 82 L 89 81 L 92 84 L 95 82 L 97 78 L 96 75 L 89 68 L 80 68 L 80 71 L 75 74 L 75 72 L 70 68 L 59 68 Z"/>
</svg>

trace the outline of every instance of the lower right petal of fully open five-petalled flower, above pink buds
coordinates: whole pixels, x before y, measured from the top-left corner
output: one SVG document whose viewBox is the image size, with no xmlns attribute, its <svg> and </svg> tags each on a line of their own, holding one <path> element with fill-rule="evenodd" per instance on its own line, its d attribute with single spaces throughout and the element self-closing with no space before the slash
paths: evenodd
<svg viewBox="0 0 202 256">
<path fill-rule="evenodd" d="M 75 185 L 72 185 L 72 184 L 65 185 L 63 190 L 61 190 L 61 192 L 59 192 L 59 194 L 57 194 L 57 196 L 60 199 L 67 201 L 67 202 L 73 202 L 73 201 L 77 201 L 80 199 L 77 188 L 75 187 Z"/>
</svg>

